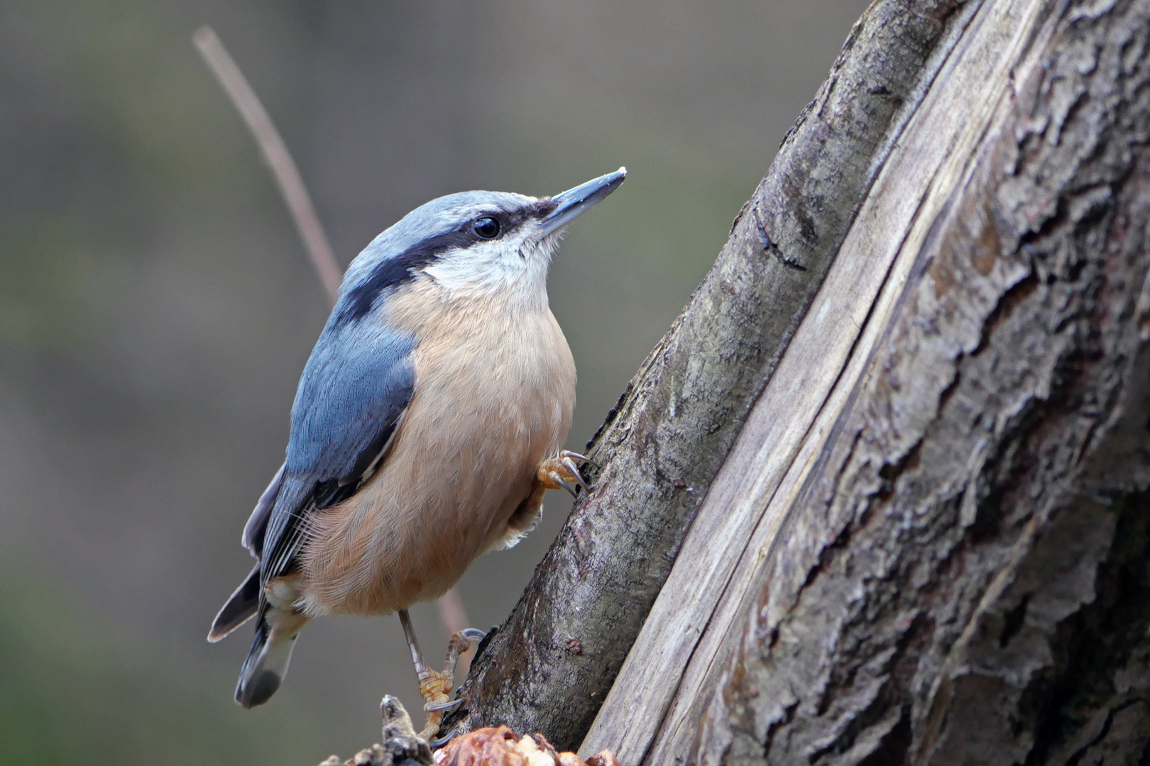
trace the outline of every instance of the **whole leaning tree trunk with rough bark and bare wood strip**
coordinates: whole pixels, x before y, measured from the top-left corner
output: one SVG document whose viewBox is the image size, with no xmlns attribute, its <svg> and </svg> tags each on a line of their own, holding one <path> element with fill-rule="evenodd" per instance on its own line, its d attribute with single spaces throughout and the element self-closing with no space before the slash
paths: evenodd
<svg viewBox="0 0 1150 766">
<path fill-rule="evenodd" d="M 582 751 L 628 766 L 1142 758 L 1148 30 L 872 6 L 458 719 L 562 748 L 606 695 Z"/>
</svg>

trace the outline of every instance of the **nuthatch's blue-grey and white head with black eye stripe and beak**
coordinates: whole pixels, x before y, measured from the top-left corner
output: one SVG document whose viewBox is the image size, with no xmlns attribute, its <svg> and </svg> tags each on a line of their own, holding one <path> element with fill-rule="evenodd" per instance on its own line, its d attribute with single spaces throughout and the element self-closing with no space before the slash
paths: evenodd
<svg viewBox="0 0 1150 766">
<path fill-rule="evenodd" d="M 356 320 L 416 278 L 475 294 L 508 292 L 546 304 L 551 254 L 564 227 L 620 184 L 627 169 L 554 196 L 461 192 L 415 208 L 347 268 L 332 318 Z"/>
</svg>

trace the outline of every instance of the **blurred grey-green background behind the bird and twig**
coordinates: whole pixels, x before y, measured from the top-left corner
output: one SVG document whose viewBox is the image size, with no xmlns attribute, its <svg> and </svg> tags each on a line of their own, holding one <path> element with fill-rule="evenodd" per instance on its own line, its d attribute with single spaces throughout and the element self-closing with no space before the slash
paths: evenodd
<svg viewBox="0 0 1150 766">
<path fill-rule="evenodd" d="M 191 45 L 212 24 L 343 264 L 413 207 L 560 192 L 552 308 L 582 446 L 682 308 L 862 0 L 0 2 L 0 764 L 309 765 L 417 706 L 398 620 L 334 618 L 231 702 L 250 630 L 204 636 L 251 560 L 327 299 Z M 473 566 L 501 622 L 561 525 Z M 413 610 L 425 651 L 444 636 Z"/>
</svg>

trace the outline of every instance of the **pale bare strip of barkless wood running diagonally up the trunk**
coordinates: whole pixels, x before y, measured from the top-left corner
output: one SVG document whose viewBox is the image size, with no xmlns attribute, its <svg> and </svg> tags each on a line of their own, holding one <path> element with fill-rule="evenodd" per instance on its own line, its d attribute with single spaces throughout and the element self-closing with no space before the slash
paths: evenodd
<svg viewBox="0 0 1150 766">
<path fill-rule="evenodd" d="M 584 750 L 611 742 L 626 763 L 647 756 L 658 764 L 689 746 L 715 667 L 726 664 L 720 651 L 731 629 L 742 633 L 743 602 L 761 578 L 762 552 L 845 404 L 833 390 L 850 390 L 857 361 L 877 342 L 874 328 L 895 308 L 925 222 L 961 177 L 991 118 L 994 94 L 1011 87 L 1010 72 L 1041 25 L 1042 8 L 1041 0 L 971 3 L 957 20 L 953 45 L 940 51 L 937 78 L 907 106 L 913 116 L 898 146 L 712 485 Z M 854 369 L 844 373 L 852 359 Z"/>
</svg>

